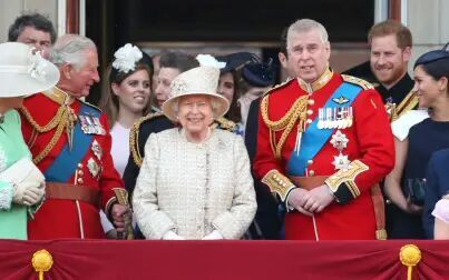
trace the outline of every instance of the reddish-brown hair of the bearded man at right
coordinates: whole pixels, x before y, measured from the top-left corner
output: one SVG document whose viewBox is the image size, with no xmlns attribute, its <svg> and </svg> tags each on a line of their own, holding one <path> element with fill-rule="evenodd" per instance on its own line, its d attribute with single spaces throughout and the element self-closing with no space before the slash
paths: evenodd
<svg viewBox="0 0 449 280">
<path fill-rule="evenodd" d="M 398 47 L 403 50 L 413 44 L 410 29 L 399 21 L 385 20 L 374 24 L 368 32 L 368 42 L 371 44 L 374 37 L 396 34 Z"/>
</svg>

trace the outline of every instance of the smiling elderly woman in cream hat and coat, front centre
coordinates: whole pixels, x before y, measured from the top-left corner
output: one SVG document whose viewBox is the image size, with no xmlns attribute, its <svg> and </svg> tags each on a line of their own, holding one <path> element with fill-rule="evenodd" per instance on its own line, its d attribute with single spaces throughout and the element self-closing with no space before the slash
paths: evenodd
<svg viewBox="0 0 449 280">
<path fill-rule="evenodd" d="M 164 113 L 178 128 L 149 136 L 133 206 L 147 239 L 240 239 L 256 201 L 241 137 L 212 129 L 228 110 L 216 93 L 219 63 L 198 56 L 201 67 L 172 82 Z"/>
</svg>

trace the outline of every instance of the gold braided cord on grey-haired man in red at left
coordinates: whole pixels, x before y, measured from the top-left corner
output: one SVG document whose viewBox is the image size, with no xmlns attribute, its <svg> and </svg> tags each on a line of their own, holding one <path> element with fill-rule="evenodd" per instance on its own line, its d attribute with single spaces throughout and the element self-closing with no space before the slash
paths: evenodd
<svg viewBox="0 0 449 280">
<path fill-rule="evenodd" d="M 35 164 L 38 164 L 47 154 L 53 149 L 56 143 L 58 142 L 59 138 L 62 134 L 62 131 L 66 127 L 72 127 L 76 118 L 71 117 L 71 114 L 75 114 L 71 111 L 71 108 L 68 106 L 61 106 L 59 107 L 55 118 L 51 119 L 46 126 L 41 127 L 39 123 L 36 122 L 36 120 L 31 117 L 30 112 L 26 107 L 20 108 L 20 111 L 23 113 L 25 118 L 28 120 L 28 122 L 39 132 L 48 132 L 55 128 L 56 132 L 53 137 L 51 138 L 50 142 L 46 146 L 46 148 L 37 156 L 33 158 Z"/>
</svg>

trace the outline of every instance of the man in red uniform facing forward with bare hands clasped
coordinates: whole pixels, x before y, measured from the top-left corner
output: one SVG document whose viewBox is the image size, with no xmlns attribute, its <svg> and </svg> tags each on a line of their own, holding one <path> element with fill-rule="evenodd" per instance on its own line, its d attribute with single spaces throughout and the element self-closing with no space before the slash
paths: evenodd
<svg viewBox="0 0 449 280">
<path fill-rule="evenodd" d="M 384 239 L 377 183 L 394 164 L 389 119 L 370 83 L 332 71 L 330 52 L 321 23 L 290 26 L 297 78 L 261 102 L 254 170 L 289 210 L 286 239 Z"/>
</svg>

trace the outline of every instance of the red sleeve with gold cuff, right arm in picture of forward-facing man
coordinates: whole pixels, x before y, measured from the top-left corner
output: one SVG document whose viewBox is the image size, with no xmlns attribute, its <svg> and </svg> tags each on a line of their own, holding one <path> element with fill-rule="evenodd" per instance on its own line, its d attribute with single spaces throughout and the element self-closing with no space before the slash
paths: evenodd
<svg viewBox="0 0 449 280">
<path fill-rule="evenodd" d="M 390 121 L 374 89 L 360 93 L 353 103 L 354 130 L 360 157 L 346 170 L 328 178 L 336 200 L 346 203 L 369 191 L 394 167 L 394 142 Z"/>
</svg>

